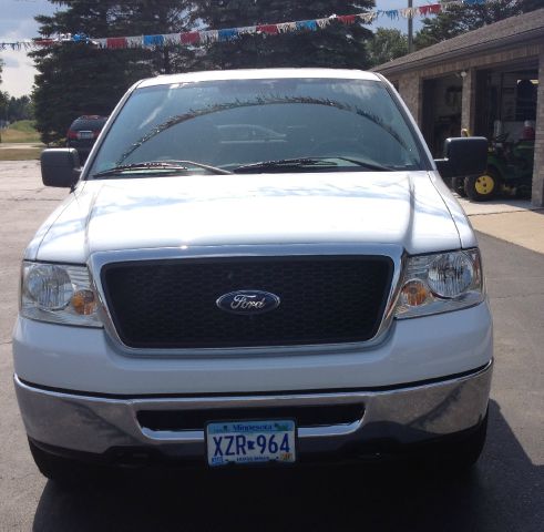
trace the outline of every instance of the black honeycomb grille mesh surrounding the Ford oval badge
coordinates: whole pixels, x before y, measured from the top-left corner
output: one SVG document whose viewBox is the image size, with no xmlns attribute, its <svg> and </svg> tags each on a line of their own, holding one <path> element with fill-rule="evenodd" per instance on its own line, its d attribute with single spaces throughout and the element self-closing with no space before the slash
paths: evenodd
<svg viewBox="0 0 544 532">
<path fill-rule="evenodd" d="M 106 304 L 133 348 L 296 346 L 366 341 L 380 326 L 393 263 L 384 256 L 236 257 L 106 264 Z M 236 315 L 235 290 L 280 298 L 266 314 Z"/>
</svg>

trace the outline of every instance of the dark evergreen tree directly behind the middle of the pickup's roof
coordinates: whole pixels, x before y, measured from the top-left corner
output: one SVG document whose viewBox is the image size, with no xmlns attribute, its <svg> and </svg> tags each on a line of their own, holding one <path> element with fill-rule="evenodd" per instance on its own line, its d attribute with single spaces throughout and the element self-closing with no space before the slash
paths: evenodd
<svg viewBox="0 0 544 532">
<path fill-rule="evenodd" d="M 361 0 L 198 0 L 192 2 L 193 20 L 209 29 L 253 27 L 265 23 L 314 20 L 331 14 L 361 13 L 373 7 Z M 308 24 L 311 28 L 311 24 Z M 274 31 L 270 29 L 269 31 Z M 335 21 L 325 29 L 280 34 L 243 34 L 205 48 L 195 68 L 239 69 L 267 66 L 368 66 L 365 42 L 371 32 L 361 22 Z"/>
</svg>

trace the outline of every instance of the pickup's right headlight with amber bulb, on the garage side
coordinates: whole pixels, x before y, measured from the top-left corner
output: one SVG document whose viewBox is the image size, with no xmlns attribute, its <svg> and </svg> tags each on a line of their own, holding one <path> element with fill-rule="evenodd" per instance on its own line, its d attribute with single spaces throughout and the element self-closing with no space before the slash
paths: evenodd
<svg viewBox="0 0 544 532">
<path fill-rule="evenodd" d="M 397 318 L 448 313 L 482 303 L 478 249 L 410 257 L 396 308 Z"/>
</svg>

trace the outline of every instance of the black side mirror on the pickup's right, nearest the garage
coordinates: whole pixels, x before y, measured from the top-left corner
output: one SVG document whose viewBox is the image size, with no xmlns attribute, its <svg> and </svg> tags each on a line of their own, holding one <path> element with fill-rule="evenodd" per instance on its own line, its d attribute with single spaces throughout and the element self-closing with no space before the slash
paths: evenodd
<svg viewBox="0 0 544 532">
<path fill-rule="evenodd" d="M 444 158 L 437 158 L 434 162 L 443 180 L 481 175 L 487 167 L 487 139 L 447 139 Z"/>
</svg>

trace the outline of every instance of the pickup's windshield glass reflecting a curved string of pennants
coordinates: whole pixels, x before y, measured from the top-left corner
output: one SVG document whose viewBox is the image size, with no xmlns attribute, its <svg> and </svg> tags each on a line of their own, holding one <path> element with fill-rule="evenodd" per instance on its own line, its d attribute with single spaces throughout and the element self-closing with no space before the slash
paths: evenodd
<svg viewBox="0 0 544 532">
<path fill-rule="evenodd" d="M 418 143 L 383 83 L 339 79 L 137 89 L 104 139 L 89 175 L 120 166 L 124 168 L 120 176 L 138 176 L 156 166 L 137 165 L 161 161 L 244 173 L 273 167 L 292 172 L 296 166 L 309 172 L 424 167 Z M 138 170 L 127 172 L 127 166 Z M 196 165 L 184 170 L 205 173 Z"/>
</svg>

